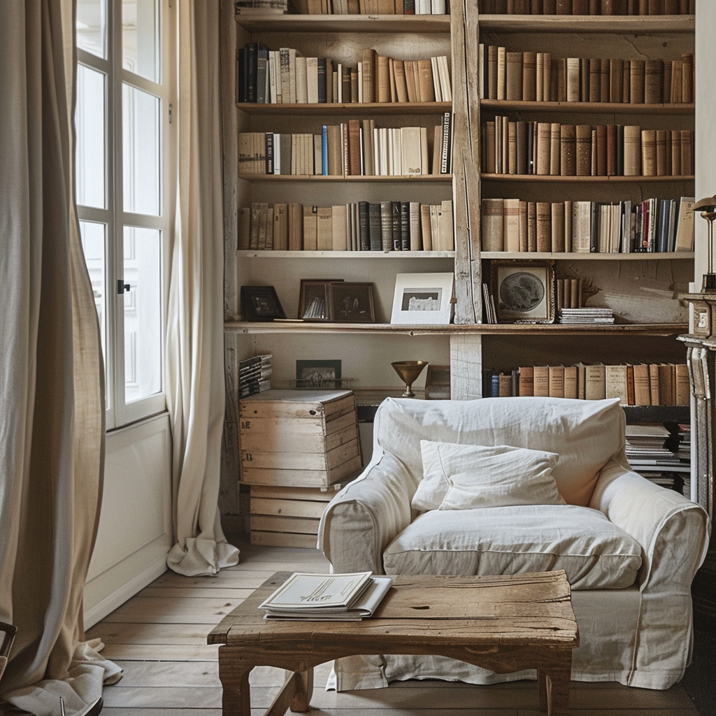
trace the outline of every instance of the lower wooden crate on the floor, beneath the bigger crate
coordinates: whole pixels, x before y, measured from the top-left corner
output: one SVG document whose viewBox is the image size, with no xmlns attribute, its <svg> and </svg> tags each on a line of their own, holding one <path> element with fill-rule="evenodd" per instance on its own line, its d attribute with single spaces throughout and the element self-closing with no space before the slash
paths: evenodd
<svg viewBox="0 0 716 716">
<path fill-rule="evenodd" d="M 251 485 L 251 544 L 315 549 L 321 515 L 340 488 Z"/>
</svg>

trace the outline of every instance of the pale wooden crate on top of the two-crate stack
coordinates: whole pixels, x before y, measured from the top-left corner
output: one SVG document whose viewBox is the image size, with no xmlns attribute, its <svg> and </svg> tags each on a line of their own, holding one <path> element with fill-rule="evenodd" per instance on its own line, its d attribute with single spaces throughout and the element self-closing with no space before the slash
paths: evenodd
<svg viewBox="0 0 716 716">
<path fill-rule="evenodd" d="M 349 390 L 267 390 L 239 403 L 241 481 L 326 488 L 362 468 Z"/>
</svg>

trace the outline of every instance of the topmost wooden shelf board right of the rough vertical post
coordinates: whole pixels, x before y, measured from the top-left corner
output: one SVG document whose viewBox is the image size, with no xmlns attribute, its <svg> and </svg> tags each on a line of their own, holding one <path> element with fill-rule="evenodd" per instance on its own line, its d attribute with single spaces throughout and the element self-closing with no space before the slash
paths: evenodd
<svg viewBox="0 0 716 716">
<path fill-rule="evenodd" d="M 693 33 L 693 15 L 480 15 L 480 29 L 488 32 L 595 32 L 611 34 Z"/>
</svg>

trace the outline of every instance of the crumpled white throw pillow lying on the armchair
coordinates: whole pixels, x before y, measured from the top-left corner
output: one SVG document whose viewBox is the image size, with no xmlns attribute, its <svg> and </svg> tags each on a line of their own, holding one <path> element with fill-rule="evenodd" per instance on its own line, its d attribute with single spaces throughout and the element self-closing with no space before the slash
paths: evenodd
<svg viewBox="0 0 716 716">
<path fill-rule="evenodd" d="M 559 456 L 511 445 L 420 440 L 423 476 L 416 510 L 470 510 L 510 505 L 564 505 L 552 477 Z"/>
</svg>

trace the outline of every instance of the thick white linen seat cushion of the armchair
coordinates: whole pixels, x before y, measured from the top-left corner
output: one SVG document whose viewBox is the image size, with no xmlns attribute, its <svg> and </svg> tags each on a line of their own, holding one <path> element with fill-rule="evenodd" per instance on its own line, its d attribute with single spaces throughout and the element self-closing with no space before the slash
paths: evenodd
<svg viewBox="0 0 716 716">
<path fill-rule="evenodd" d="M 566 571 L 572 589 L 623 589 L 639 544 L 603 513 L 576 505 L 518 505 L 422 513 L 383 553 L 386 574 Z"/>
</svg>

